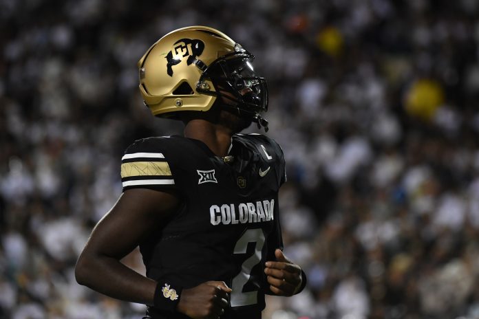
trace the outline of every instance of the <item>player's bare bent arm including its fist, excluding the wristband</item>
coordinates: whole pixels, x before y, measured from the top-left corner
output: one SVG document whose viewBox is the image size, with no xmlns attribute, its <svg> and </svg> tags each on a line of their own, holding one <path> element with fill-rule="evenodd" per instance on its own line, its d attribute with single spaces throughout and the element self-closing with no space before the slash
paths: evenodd
<svg viewBox="0 0 479 319">
<path fill-rule="evenodd" d="M 123 265 L 120 259 L 158 231 L 179 204 L 178 197 L 169 192 L 125 190 L 94 228 L 76 263 L 76 281 L 113 298 L 155 305 L 158 283 Z M 229 292 L 231 289 L 219 281 L 183 289 L 175 311 L 191 318 L 217 318 L 228 306 Z"/>
</svg>

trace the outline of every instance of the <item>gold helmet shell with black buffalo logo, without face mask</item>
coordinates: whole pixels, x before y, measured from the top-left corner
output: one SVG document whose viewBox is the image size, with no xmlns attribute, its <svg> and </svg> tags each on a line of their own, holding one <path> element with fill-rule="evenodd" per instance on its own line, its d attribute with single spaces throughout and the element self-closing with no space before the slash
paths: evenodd
<svg viewBox="0 0 479 319">
<path fill-rule="evenodd" d="M 211 109 L 217 96 L 197 91 L 201 66 L 234 51 L 235 41 L 226 34 L 200 25 L 163 36 L 138 61 L 140 92 L 151 113 L 175 117 L 179 111 Z M 202 85 L 216 91 L 211 81 Z"/>
</svg>

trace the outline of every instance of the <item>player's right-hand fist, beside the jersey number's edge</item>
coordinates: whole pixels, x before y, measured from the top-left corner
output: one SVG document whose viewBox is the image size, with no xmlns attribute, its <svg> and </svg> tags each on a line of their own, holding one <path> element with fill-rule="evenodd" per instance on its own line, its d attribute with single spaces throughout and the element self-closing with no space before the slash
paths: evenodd
<svg viewBox="0 0 479 319">
<path fill-rule="evenodd" d="M 292 263 L 279 249 L 275 250 L 277 261 L 267 261 L 264 273 L 268 275 L 270 290 L 277 296 L 292 296 L 301 288 L 301 267 Z"/>
</svg>

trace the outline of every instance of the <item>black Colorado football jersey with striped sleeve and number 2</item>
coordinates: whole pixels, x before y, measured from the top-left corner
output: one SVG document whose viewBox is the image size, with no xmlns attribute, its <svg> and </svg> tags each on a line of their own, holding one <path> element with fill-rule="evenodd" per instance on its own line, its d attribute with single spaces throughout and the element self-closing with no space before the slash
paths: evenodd
<svg viewBox="0 0 479 319">
<path fill-rule="evenodd" d="M 279 145 L 238 134 L 221 158 L 199 140 L 150 137 L 127 148 L 121 175 L 123 190 L 175 190 L 181 198 L 178 212 L 140 243 L 147 276 L 184 288 L 224 281 L 233 292 L 222 318 L 259 318 L 269 287 L 264 263 L 283 248 L 278 190 L 286 174 Z M 149 315 L 185 318 L 154 307 Z"/>
</svg>

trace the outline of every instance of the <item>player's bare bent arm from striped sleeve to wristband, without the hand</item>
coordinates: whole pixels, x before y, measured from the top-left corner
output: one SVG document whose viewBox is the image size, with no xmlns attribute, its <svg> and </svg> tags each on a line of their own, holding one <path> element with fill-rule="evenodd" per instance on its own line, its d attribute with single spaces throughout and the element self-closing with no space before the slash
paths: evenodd
<svg viewBox="0 0 479 319">
<path fill-rule="evenodd" d="M 151 232 L 158 231 L 179 203 L 178 197 L 169 192 L 125 190 L 98 222 L 78 258 L 78 283 L 113 298 L 153 305 L 156 282 L 123 265 L 120 259 Z"/>
</svg>

